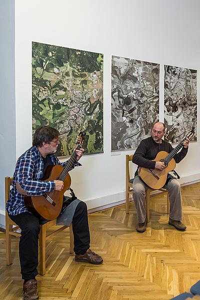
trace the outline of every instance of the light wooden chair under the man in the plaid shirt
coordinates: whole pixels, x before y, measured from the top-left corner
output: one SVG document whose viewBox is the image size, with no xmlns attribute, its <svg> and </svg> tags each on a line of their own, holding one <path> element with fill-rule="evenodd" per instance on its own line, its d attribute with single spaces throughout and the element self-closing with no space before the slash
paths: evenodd
<svg viewBox="0 0 200 300">
<path fill-rule="evenodd" d="M 5 177 L 5 204 L 9 198 L 10 186 L 12 184 L 12 177 Z M 40 232 L 39 232 L 39 274 L 45 274 L 45 247 L 46 247 L 46 239 L 52 237 L 58 232 L 64 230 L 67 226 L 59 227 L 57 230 L 48 233 L 47 229 L 54 226 L 56 224 L 56 219 L 48 221 L 44 224 L 40 224 Z M 16 230 L 19 227 L 9 218 L 7 211 L 5 209 L 5 246 L 6 246 L 6 264 L 11 264 L 11 236 L 20 236 L 20 233 Z M 69 226 L 70 232 L 70 244 L 69 244 L 69 253 L 73 253 L 73 232 L 72 226 Z"/>
</svg>

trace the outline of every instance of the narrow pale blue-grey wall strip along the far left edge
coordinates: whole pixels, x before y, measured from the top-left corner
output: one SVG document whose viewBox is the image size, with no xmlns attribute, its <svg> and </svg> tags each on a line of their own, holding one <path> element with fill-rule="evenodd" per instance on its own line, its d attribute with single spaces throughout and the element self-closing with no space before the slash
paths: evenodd
<svg viewBox="0 0 200 300">
<path fill-rule="evenodd" d="M 0 0 L 0 224 L 4 224 L 4 177 L 15 165 L 14 0 Z"/>
</svg>

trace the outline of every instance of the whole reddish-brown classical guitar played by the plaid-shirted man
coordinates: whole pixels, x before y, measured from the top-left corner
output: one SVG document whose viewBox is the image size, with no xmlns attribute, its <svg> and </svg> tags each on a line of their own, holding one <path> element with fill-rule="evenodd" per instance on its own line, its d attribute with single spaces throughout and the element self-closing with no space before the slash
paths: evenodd
<svg viewBox="0 0 200 300">
<path fill-rule="evenodd" d="M 76 160 L 76 149 L 80 149 L 82 147 L 84 135 L 85 132 L 80 133 L 78 137 L 78 145 L 67 161 L 65 167 L 60 164 L 49 165 L 41 178 L 43 181 L 62 180 L 64 182 L 63 189 L 61 191 L 49 191 L 40 196 L 24 195 L 24 204 L 33 214 L 40 215 L 46 220 L 55 219 L 59 215 L 62 208 L 63 194 L 71 184 L 71 178 L 68 172 Z"/>
</svg>

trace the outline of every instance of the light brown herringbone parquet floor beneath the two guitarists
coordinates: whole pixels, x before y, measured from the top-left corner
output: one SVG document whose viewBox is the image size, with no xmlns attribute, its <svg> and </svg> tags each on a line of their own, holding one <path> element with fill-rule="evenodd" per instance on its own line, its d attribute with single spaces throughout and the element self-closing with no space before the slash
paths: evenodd
<svg viewBox="0 0 200 300">
<path fill-rule="evenodd" d="M 47 241 L 46 274 L 40 299 L 130 300 L 170 299 L 200 279 L 200 183 L 182 187 L 185 232 L 168 225 L 166 198 L 151 198 L 150 221 L 144 233 L 135 230 L 130 203 L 89 215 L 91 249 L 102 265 L 75 262 L 69 256 L 68 229 Z M 52 229 L 53 230 L 53 229 Z M 12 239 L 10 266 L 5 264 L 5 233 L 0 232 L 0 299 L 22 298 L 18 239 Z"/>
</svg>

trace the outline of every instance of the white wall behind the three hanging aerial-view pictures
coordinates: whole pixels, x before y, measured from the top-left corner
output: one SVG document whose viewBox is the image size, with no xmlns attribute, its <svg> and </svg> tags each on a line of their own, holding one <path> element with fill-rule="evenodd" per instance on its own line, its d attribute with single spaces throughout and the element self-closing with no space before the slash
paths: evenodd
<svg viewBox="0 0 200 300">
<path fill-rule="evenodd" d="M 104 153 L 81 159 L 72 188 L 88 208 L 124 199 L 125 154 L 133 150 L 110 152 L 111 55 L 160 63 L 162 88 L 163 64 L 199 70 L 199 9 L 199 0 L 16 0 L 16 158 L 31 145 L 31 41 L 103 53 Z M 182 182 L 200 178 L 198 148 L 191 143 L 177 166 Z"/>
</svg>

